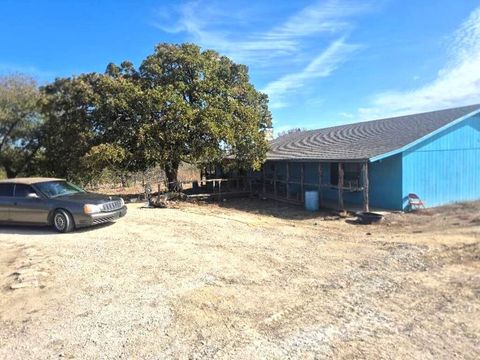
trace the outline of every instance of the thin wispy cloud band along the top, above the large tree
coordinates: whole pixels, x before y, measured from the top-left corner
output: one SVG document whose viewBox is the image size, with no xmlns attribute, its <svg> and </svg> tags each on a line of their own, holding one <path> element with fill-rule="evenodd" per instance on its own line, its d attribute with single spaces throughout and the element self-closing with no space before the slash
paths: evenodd
<svg viewBox="0 0 480 360">
<path fill-rule="evenodd" d="M 278 26 L 263 32 L 249 31 L 252 14 L 238 13 L 218 4 L 192 1 L 171 10 L 162 9 L 153 25 L 169 33 L 187 33 L 191 40 L 216 49 L 238 62 L 268 65 L 271 60 L 287 57 L 305 48 L 305 38 L 320 33 L 335 34 L 351 28 L 349 18 L 370 8 L 348 0 L 317 1 L 301 9 Z M 174 22 L 169 19 L 175 18 Z M 240 25 L 242 31 L 228 30 Z M 243 27 L 242 27 L 243 26 Z"/>
</svg>

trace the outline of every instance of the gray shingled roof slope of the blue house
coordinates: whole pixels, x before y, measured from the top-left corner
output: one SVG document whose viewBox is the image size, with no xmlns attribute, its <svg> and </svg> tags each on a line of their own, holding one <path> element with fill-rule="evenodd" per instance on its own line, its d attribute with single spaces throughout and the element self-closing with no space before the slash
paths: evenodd
<svg viewBox="0 0 480 360">
<path fill-rule="evenodd" d="M 398 150 L 480 104 L 302 131 L 270 142 L 268 160 L 362 160 Z"/>
</svg>

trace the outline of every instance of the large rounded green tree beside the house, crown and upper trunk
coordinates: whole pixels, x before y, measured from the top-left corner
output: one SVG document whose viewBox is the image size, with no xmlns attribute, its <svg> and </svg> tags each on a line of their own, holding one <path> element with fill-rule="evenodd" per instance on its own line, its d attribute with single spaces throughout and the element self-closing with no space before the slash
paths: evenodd
<svg viewBox="0 0 480 360">
<path fill-rule="evenodd" d="M 241 168 L 260 167 L 271 115 L 246 66 L 193 44 L 160 44 L 139 72 L 146 94 L 155 99 L 143 140 L 164 163 L 169 181 L 176 181 L 180 161 L 229 157 Z"/>
</svg>

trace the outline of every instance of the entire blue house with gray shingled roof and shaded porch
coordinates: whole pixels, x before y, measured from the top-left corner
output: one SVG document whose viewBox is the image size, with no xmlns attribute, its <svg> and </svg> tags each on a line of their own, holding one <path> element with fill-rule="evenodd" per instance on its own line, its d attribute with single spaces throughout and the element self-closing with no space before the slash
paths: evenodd
<svg viewBox="0 0 480 360">
<path fill-rule="evenodd" d="M 302 204 L 405 210 L 480 199 L 480 105 L 302 131 L 273 140 L 257 186 Z"/>
</svg>

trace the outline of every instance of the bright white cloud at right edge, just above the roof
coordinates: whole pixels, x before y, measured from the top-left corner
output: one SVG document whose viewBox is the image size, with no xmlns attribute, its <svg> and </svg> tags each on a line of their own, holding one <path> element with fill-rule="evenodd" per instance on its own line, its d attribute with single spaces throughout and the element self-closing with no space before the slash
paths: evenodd
<svg viewBox="0 0 480 360">
<path fill-rule="evenodd" d="M 363 119 L 480 103 L 480 7 L 461 24 L 449 60 L 435 80 L 409 91 L 388 91 L 359 109 Z"/>
</svg>

